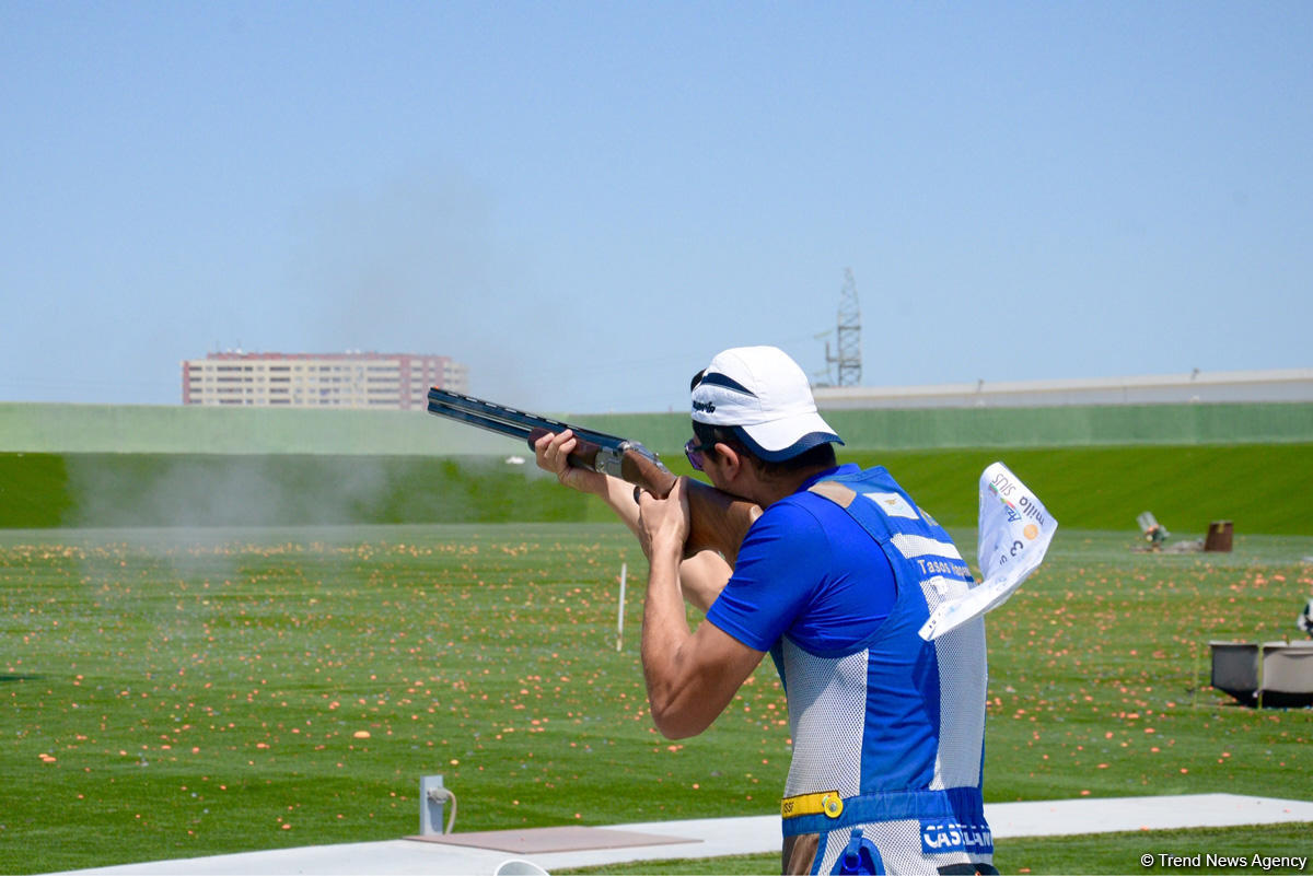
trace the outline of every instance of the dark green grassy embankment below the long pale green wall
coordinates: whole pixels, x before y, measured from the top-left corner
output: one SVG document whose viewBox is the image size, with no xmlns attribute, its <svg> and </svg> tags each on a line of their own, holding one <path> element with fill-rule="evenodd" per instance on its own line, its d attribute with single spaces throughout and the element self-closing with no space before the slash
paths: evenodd
<svg viewBox="0 0 1313 876">
<path fill-rule="evenodd" d="M 948 526 L 974 526 L 976 483 L 1006 462 L 1064 527 L 1133 530 L 1152 510 L 1179 538 L 1309 535 L 1313 445 L 847 452 L 881 463 Z M 688 473 L 683 459 L 667 460 Z M 0 454 L 0 528 L 605 522 L 532 464 L 419 456 Z"/>
</svg>

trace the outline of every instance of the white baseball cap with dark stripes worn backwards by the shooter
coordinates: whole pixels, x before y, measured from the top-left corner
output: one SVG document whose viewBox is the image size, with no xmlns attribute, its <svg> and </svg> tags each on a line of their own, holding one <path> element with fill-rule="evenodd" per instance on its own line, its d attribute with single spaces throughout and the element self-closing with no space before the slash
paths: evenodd
<svg viewBox="0 0 1313 876">
<path fill-rule="evenodd" d="M 775 346 L 738 346 L 712 359 L 693 380 L 693 420 L 733 429 L 772 463 L 827 442 L 843 443 L 817 413 L 798 363 Z"/>
</svg>

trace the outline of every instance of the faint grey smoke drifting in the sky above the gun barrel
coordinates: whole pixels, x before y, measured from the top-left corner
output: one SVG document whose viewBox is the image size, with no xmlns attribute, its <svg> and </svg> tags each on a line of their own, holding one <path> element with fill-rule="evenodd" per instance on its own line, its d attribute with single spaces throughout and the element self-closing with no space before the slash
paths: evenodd
<svg viewBox="0 0 1313 876">
<path fill-rule="evenodd" d="M 557 316 L 545 302 L 523 304 L 536 300 L 524 294 L 527 269 L 499 240 L 484 189 L 418 174 L 324 198 L 299 224 L 289 282 L 306 307 L 263 320 L 288 327 L 282 346 L 450 355 L 470 367 L 473 391 L 537 404 L 508 337 L 524 336 L 525 325 L 545 336 Z"/>
</svg>

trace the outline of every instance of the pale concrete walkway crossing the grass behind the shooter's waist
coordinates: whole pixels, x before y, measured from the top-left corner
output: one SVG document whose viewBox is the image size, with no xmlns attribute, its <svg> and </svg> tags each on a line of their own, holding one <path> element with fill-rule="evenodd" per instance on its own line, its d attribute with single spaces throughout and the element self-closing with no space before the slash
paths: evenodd
<svg viewBox="0 0 1313 876">
<path fill-rule="evenodd" d="M 1313 803 L 1246 797 L 1233 793 L 1175 797 L 1086 797 L 1037 803 L 993 803 L 985 805 L 985 816 L 989 818 L 995 839 L 1011 839 L 1015 837 L 1062 837 L 1124 830 L 1313 822 Z M 219 873 L 243 873 L 244 876 L 282 873 L 316 873 L 322 876 L 491 875 L 508 859 L 532 860 L 550 872 L 567 867 L 591 867 L 634 860 L 764 854 L 776 852 L 780 848 L 780 818 L 775 814 L 701 821 L 651 821 L 616 825 L 604 830 L 624 831 L 630 835 L 650 834 L 666 839 L 650 846 L 574 848 L 530 855 L 513 855 L 504 850 L 446 842 L 393 839 L 119 864 L 70 872 L 101 876 L 164 876 L 168 873 L 184 876 Z M 523 834 L 525 831 L 500 833 Z M 516 842 L 513 837 L 506 839 Z M 599 838 L 599 841 L 604 842 L 605 838 Z M 503 848 L 519 847 L 500 845 Z"/>
</svg>

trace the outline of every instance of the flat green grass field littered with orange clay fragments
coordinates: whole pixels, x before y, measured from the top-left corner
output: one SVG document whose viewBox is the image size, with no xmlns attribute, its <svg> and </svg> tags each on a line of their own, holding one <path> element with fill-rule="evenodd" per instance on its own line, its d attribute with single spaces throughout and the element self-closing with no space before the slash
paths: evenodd
<svg viewBox="0 0 1313 876">
<path fill-rule="evenodd" d="M 987 800 L 1309 796 L 1313 711 L 1207 686 L 1211 639 L 1296 633 L 1313 587 L 1313 538 L 1243 532 L 1148 555 L 1060 530 L 989 619 Z M 428 774 L 457 830 L 775 812 L 772 669 L 704 736 L 653 730 L 643 573 L 614 525 L 3 532 L 0 872 L 391 839 Z M 1032 867 L 1011 842 L 999 864 Z M 1127 842 L 1054 867 L 1134 871 Z"/>
</svg>

